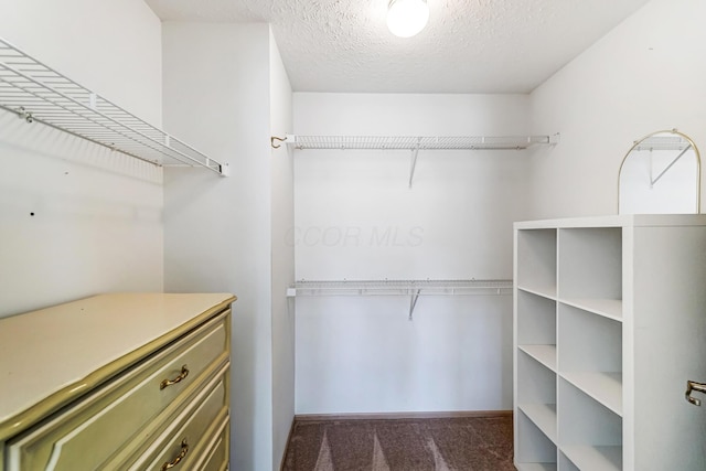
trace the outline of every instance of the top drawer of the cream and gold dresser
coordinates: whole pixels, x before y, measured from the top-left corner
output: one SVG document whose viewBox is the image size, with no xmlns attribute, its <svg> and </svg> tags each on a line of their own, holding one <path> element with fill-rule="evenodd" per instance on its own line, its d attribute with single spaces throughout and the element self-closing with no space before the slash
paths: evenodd
<svg viewBox="0 0 706 471">
<path fill-rule="evenodd" d="M 227 364 L 229 312 L 7 443 L 8 471 L 97 469 L 133 439 L 148 440 Z"/>
</svg>

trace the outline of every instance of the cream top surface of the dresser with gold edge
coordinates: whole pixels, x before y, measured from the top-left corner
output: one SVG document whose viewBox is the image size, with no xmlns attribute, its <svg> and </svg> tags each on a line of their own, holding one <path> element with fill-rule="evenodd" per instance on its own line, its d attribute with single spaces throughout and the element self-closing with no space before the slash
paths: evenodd
<svg viewBox="0 0 706 471">
<path fill-rule="evenodd" d="M 227 308 L 229 293 L 111 293 L 0 320 L 0 441 Z M 62 397 L 56 397 L 62 396 Z"/>
</svg>

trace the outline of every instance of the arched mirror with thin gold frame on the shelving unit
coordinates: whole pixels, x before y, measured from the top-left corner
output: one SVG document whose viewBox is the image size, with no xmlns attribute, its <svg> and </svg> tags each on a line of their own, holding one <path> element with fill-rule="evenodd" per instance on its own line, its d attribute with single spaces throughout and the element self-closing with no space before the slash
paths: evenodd
<svg viewBox="0 0 706 471">
<path fill-rule="evenodd" d="M 635 141 L 618 173 L 618 214 L 700 212 L 702 163 L 692 139 L 677 130 Z"/>
</svg>

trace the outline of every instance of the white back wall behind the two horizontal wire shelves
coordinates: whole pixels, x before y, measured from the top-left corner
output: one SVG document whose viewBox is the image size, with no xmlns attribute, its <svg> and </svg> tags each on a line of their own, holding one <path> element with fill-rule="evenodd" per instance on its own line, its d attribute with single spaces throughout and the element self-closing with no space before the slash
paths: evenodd
<svg viewBox="0 0 706 471">
<path fill-rule="evenodd" d="M 298 135 L 513 136 L 524 95 L 295 94 Z M 547 133 L 549 131 L 545 131 Z M 297 279 L 510 279 L 525 151 L 295 151 Z M 297 298 L 297 413 L 510 409 L 509 297 Z"/>
</svg>

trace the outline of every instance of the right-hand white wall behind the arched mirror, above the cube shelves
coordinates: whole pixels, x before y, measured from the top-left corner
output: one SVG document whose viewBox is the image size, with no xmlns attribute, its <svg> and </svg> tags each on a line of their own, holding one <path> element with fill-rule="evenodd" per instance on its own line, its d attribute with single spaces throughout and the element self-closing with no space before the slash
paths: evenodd
<svg viewBox="0 0 706 471">
<path fill-rule="evenodd" d="M 633 141 L 677 128 L 706 151 L 706 3 L 653 0 L 532 94 L 533 217 L 616 214 Z M 702 205 L 704 195 L 702 195 Z"/>
</svg>

